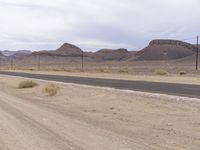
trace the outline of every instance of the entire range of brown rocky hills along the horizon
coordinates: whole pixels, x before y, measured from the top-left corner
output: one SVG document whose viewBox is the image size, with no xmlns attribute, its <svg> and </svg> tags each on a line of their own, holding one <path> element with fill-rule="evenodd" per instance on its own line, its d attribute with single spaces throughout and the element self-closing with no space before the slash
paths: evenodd
<svg viewBox="0 0 200 150">
<path fill-rule="evenodd" d="M 147 47 L 138 51 L 128 51 L 125 48 L 101 49 L 97 52 L 83 52 L 79 47 L 64 43 L 60 48 L 51 51 L 31 52 L 29 50 L 1 51 L 0 57 L 24 58 L 35 55 L 42 56 L 76 56 L 84 54 L 87 61 L 158 61 L 190 58 L 196 52 L 196 45 L 178 41 L 158 39 L 152 40 Z M 193 57 L 191 57 L 193 58 Z"/>
</svg>

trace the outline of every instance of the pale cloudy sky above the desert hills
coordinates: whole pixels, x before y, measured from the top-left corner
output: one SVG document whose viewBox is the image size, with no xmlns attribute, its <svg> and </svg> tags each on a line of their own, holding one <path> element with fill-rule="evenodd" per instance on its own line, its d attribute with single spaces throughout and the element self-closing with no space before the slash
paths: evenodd
<svg viewBox="0 0 200 150">
<path fill-rule="evenodd" d="M 140 50 L 197 34 L 200 0 L 0 0 L 0 50 Z"/>
</svg>

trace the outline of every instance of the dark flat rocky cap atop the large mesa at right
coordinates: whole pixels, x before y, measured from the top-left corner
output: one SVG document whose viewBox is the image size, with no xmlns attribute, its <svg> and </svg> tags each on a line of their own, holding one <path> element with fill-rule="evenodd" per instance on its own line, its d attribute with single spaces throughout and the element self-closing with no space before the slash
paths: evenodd
<svg viewBox="0 0 200 150">
<path fill-rule="evenodd" d="M 187 42 L 179 41 L 179 40 L 166 40 L 166 39 L 152 40 L 149 43 L 149 46 L 154 46 L 154 45 L 179 45 L 179 46 L 186 47 L 188 49 L 195 49 L 194 45 Z"/>
</svg>

